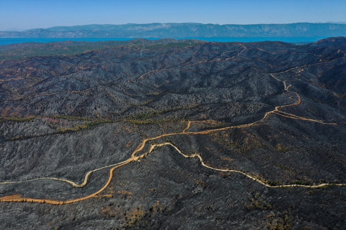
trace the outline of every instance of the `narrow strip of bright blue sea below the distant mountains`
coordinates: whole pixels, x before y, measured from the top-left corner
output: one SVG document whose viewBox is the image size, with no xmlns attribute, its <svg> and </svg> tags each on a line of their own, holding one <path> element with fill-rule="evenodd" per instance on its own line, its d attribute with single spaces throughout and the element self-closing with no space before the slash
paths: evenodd
<svg viewBox="0 0 346 230">
<path fill-rule="evenodd" d="M 258 37 L 258 38 L 188 38 L 217 42 L 254 42 L 254 41 L 283 41 L 283 42 L 315 42 L 328 37 Z M 134 38 L 0 38 L 0 45 L 23 42 L 52 42 L 52 41 L 127 41 Z M 145 38 L 157 40 L 160 38 Z M 184 38 L 178 38 L 184 39 Z"/>
</svg>

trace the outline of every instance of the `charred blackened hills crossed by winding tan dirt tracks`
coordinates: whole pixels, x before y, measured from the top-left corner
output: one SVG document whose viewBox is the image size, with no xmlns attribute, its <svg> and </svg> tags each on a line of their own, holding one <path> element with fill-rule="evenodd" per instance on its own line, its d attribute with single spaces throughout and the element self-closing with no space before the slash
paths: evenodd
<svg viewBox="0 0 346 230">
<path fill-rule="evenodd" d="M 1 228 L 344 229 L 345 53 L 138 39 L 3 60 Z"/>
</svg>

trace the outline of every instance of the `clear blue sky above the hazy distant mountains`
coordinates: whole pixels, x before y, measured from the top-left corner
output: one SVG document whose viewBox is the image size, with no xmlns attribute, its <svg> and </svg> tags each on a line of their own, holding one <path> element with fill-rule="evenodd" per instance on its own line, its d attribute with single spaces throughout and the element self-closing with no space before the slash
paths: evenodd
<svg viewBox="0 0 346 230">
<path fill-rule="evenodd" d="M 1 31 L 85 24 L 269 24 L 327 21 L 346 21 L 346 0 L 0 0 Z"/>
</svg>

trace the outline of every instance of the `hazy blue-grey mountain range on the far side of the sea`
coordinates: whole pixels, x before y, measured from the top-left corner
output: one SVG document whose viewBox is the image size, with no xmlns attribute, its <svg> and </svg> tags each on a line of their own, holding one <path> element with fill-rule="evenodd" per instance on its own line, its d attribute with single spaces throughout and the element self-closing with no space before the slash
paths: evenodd
<svg viewBox="0 0 346 230">
<path fill-rule="evenodd" d="M 26 31 L 1 31 L 0 37 L 36 38 L 189 38 L 189 37 L 337 37 L 346 36 L 346 24 L 291 23 L 291 24 L 91 24 L 57 26 Z"/>
</svg>

